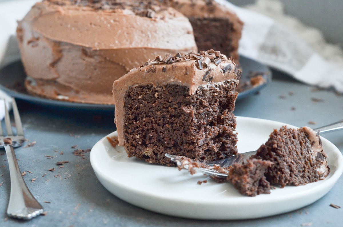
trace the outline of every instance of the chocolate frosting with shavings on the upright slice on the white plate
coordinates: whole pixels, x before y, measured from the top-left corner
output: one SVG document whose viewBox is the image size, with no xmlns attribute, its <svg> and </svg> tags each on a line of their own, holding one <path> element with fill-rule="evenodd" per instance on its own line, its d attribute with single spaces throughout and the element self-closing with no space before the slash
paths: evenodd
<svg viewBox="0 0 343 227">
<path fill-rule="evenodd" d="M 199 86 L 211 83 L 222 83 L 225 80 L 235 80 L 238 84 L 241 71 L 230 58 L 227 59 L 220 51 L 208 50 L 187 55 L 179 53 L 174 57 L 167 53 L 163 58 L 156 56 L 141 67 L 132 69 L 126 75 L 113 83 L 113 98 L 115 102 L 115 124 L 118 132 L 119 145 L 124 143 L 124 96 L 131 86 L 153 84 L 154 86 L 177 83 L 189 87 L 189 94 L 197 92 Z"/>
</svg>

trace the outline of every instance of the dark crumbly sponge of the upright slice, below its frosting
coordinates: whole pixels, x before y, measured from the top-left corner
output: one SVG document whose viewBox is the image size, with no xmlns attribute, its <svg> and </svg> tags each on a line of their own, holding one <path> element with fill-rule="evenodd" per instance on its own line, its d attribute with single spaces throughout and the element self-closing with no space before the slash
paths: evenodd
<svg viewBox="0 0 343 227">
<path fill-rule="evenodd" d="M 198 161 L 237 154 L 236 84 L 201 85 L 189 95 L 180 84 L 132 86 L 124 99 L 124 146 L 128 156 L 174 165 L 165 153 Z"/>
</svg>

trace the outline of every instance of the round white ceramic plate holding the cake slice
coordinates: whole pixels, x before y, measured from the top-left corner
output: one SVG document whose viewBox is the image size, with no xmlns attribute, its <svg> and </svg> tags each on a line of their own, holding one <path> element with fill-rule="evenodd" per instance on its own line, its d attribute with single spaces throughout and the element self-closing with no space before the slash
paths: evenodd
<svg viewBox="0 0 343 227">
<path fill-rule="evenodd" d="M 237 117 L 238 151 L 256 150 L 266 142 L 281 122 Z M 295 128 L 294 126 L 287 127 Z M 108 136 L 115 136 L 116 132 Z M 325 180 L 304 186 L 276 188 L 270 194 L 248 197 L 229 183 L 208 180 L 202 174 L 190 175 L 176 167 L 147 164 L 128 158 L 122 147 L 112 147 L 106 138 L 92 148 L 90 160 L 103 186 L 120 199 L 154 212 L 196 219 L 248 219 L 296 210 L 320 199 L 330 191 L 343 172 L 341 152 L 322 138 L 331 169 Z"/>
</svg>

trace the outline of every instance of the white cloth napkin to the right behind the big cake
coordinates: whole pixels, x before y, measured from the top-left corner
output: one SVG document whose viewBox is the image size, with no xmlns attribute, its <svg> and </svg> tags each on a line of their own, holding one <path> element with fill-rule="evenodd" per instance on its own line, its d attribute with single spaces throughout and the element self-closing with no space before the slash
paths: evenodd
<svg viewBox="0 0 343 227">
<path fill-rule="evenodd" d="M 238 52 L 295 79 L 343 92 L 343 65 L 325 60 L 303 39 L 262 14 L 216 0 L 232 9 L 244 22 Z"/>
</svg>

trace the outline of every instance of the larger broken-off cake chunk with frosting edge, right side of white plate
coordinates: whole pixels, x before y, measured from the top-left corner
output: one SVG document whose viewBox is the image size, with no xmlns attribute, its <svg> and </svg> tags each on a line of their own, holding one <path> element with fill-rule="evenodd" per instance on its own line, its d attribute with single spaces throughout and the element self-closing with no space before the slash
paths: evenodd
<svg viewBox="0 0 343 227">
<path fill-rule="evenodd" d="M 254 157 L 274 163 L 265 176 L 281 188 L 323 180 L 330 172 L 319 132 L 309 127 L 274 129 Z"/>
</svg>

